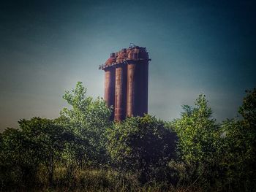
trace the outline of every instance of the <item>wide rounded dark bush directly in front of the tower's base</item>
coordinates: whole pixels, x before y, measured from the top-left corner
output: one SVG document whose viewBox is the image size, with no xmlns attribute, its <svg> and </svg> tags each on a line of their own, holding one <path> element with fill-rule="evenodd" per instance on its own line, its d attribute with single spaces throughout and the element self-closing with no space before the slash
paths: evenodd
<svg viewBox="0 0 256 192">
<path fill-rule="evenodd" d="M 143 179 L 175 158 L 176 134 L 150 115 L 127 118 L 108 129 L 108 152 L 123 171 L 140 172 Z M 161 173 L 164 175 L 164 173 Z"/>
</svg>

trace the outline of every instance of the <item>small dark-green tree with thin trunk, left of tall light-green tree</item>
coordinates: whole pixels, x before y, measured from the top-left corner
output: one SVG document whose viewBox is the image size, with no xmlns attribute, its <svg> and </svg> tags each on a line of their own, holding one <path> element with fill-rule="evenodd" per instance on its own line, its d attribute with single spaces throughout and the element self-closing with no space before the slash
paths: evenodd
<svg viewBox="0 0 256 192">
<path fill-rule="evenodd" d="M 49 183 L 53 183 L 53 174 L 56 163 L 61 161 L 66 143 L 72 139 L 72 133 L 63 126 L 45 118 L 31 118 L 31 120 L 22 119 L 18 121 L 20 129 L 30 147 L 38 158 L 40 164 L 48 169 Z"/>
</svg>

